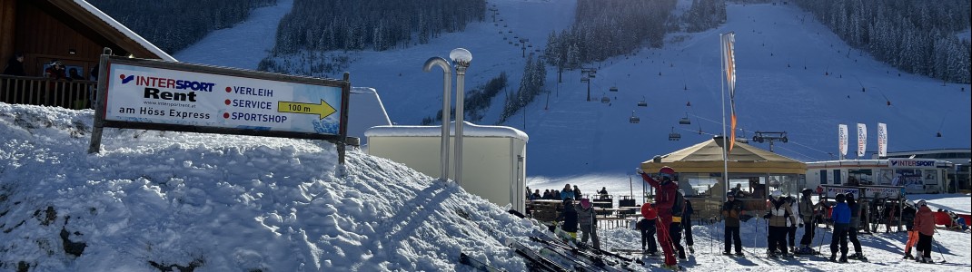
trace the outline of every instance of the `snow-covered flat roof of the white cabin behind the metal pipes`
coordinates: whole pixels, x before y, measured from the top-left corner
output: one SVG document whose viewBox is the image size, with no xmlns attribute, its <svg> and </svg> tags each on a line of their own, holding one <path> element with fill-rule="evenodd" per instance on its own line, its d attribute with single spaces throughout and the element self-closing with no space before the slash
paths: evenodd
<svg viewBox="0 0 972 272">
<path fill-rule="evenodd" d="M 530 137 L 526 132 L 509 126 L 497 125 L 477 125 L 464 121 L 463 137 L 508 137 L 529 142 Z M 449 125 L 449 135 L 456 135 L 456 122 Z M 364 131 L 365 137 L 431 137 L 441 136 L 442 126 L 440 125 L 382 125 L 368 128 Z"/>
</svg>

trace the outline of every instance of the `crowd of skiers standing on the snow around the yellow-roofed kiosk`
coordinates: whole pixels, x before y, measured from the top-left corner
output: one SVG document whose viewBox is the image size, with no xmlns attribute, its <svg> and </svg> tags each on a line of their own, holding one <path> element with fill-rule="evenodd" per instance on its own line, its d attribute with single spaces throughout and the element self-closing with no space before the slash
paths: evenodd
<svg viewBox="0 0 972 272">
<path fill-rule="evenodd" d="M 638 168 L 637 172 L 656 192 L 653 202 L 642 204 L 642 219 L 635 225 L 641 234 L 642 253 L 664 255 L 663 266 L 677 269 L 678 259 L 686 259 L 686 251 L 694 254 L 692 238 L 694 211 L 691 201 L 678 189 L 676 171 L 671 167 L 660 168 L 657 175 L 644 173 L 641 168 Z M 765 220 L 767 226 L 765 231 L 768 257 L 821 254 L 813 249 L 813 244 L 818 232 L 817 228 L 820 224 L 826 224 L 828 228 L 832 226 L 832 235 L 828 241 L 829 260 L 834 262 L 848 262 L 849 259 L 866 260 L 864 248 L 857 234 L 860 231 L 868 231 L 869 222 L 866 219 L 869 215 L 867 214 L 878 212 L 871 211 L 873 206 L 869 207 L 866 199 L 858 198 L 854 193 L 838 193 L 828 200 L 822 197 L 817 188 L 816 193 L 821 197 L 815 201 L 814 192 L 815 190 L 811 188 L 804 188 L 800 191 L 799 197 L 796 197 L 783 195 L 779 189 L 773 190 L 766 197 L 765 210 L 757 208 L 765 211 L 765 214 L 749 215 L 750 211 L 746 211 L 747 205 L 739 199 L 746 193 L 739 187 L 729 191 L 725 195 L 727 201 L 722 203 L 719 209 L 720 219 L 724 221 L 722 254 L 746 255 L 741 239 L 741 226 L 744 221 L 756 216 Z M 607 189 L 602 188 L 598 193 L 607 194 Z M 594 247 L 600 249 L 600 239 L 596 231 L 597 217 L 591 207 L 590 199 L 580 198 L 579 203 L 573 204 L 573 199 L 582 197 L 579 188 L 566 185 L 561 190 L 548 189 L 542 194 L 537 189 L 528 196 L 530 199 L 562 199 L 565 209 L 557 218 L 560 228 L 574 240 L 576 232 L 579 231 L 582 234 L 580 243 L 587 243 L 590 238 Z M 865 200 L 865 202 L 858 200 Z M 900 215 L 901 223 L 908 229 L 908 241 L 904 247 L 903 258 L 931 262 L 931 241 L 935 232 L 935 218 L 927 203 L 923 200 L 918 203 L 907 201 L 903 203 L 900 214 L 896 211 L 899 211 L 897 207 L 885 209 L 882 213 Z M 803 233 L 797 240 L 799 229 L 803 229 Z M 682 238 L 685 240 L 684 244 L 681 242 Z M 822 239 L 819 241 L 822 247 Z M 853 249 L 852 254 L 851 249 Z M 913 255 L 913 249 L 917 249 L 917 254 Z"/>
</svg>

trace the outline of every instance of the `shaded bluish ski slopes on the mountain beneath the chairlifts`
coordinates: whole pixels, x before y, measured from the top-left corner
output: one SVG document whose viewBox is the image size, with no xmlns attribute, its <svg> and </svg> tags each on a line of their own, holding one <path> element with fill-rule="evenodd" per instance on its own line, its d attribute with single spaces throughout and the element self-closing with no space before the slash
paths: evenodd
<svg viewBox="0 0 972 272">
<path fill-rule="evenodd" d="M 573 0 L 489 1 L 490 7 L 500 11 L 495 23 L 487 16 L 483 22 L 469 24 L 465 32 L 445 33 L 428 45 L 351 52 L 355 60 L 348 68 L 352 85 L 376 88 L 393 122 L 417 124 L 434 117 L 441 108 L 441 71 L 423 72 L 425 60 L 448 57 L 452 49 L 466 48 L 473 55 L 467 90 L 501 72 L 509 76 L 509 86 L 478 122 L 496 124 L 503 99 L 516 91 L 525 62 L 521 48 L 510 45 L 510 40 L 527 38 L 535 51 L 541 50 L 551 31 L 572 23 L 573 4 Z M 684 6 L 679 4 L 679 10 Z M 258 10 L 254 20 L 283 16 L 282 9 L 272 9 L 275 12 Z M 841 123 L 851 128 L 858 122 L 867 125 L 870 137 L 865 158 L 877 152 L 879 122 L 887 124 L 889 152 L 967 148 L 972 142 L 969 85 L 899 76 L 886 64 L 850 50 L 793 5 L 729 4 L 727 9 L 727 22 L 716 29 L 673 33 L 662 49 L 644 48 L 589 64 L 599 68 L 590 85 L 591 102 L 586 101 L 587 85 L 580 83 L 579 71 L 565 71 L 563 83 L 558 84 L 557 73 L 550 68 L 546 81 L 549 98 L 539 96 L 525 114 L 520 112 L 503 123 L 531 136 L 527 158 L 531 183 L 596 175 L 608 177 L 618 187 L 626 186 L 625 175 L 632 174 L 630 169 L 639 162 L 722 134 L 718 37 L 730 31 L 736 33 L 735 103 L 740 137 L 751 138 L 755 131 L 785 131 L 789 142 L 776 143 L 774 151 L 802 161 L 836 159 L 837 125 Z M 246 25 L 216 32 L 175 56 L 187 62 L 254 69 L 254 56 L 265 55 L 265 46 L 218 41 L 226 33 L 272 34 L 260 34 L 269 28 Z M 198 52 L 226 56 L 203 57 L 207 53 Z M 236 62 L 245 57 L 252 60 Z M 611 86 L 619 91 L 608 91 Z M 604 96 L 611 102 L 601 103 Z M 642 100 L 647 107 L 637 106 Z M 641 121 L 630 123 L 633 115 Z M 691 124 L 678 124 L 683 118 Z M 673 132 L 682 136 L 680 141 L 668 141 Z M 857 140 L 854 132 L 851 143 Z M 941 138 L 935 137 L 938 132 Z M 768 143 L 752 144 L 770 148 Z M 856 156 L 851 152 L 847 157 Z"/>
</svg>

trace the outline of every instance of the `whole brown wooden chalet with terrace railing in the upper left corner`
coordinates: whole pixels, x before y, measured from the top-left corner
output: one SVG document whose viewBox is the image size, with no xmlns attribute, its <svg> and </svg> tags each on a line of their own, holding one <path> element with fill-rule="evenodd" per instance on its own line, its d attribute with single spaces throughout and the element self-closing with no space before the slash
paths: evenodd
<svg viewBox="0 0 972 272">
<path fill-rule="evenodd" d="M 115 55 L 176 61 L 84 0 L 0 0 L 0 71 L 20 53 L 26 74 L 0 75 L 0 102 L 91 107 L 90 71 L 105 48 Z M 44 78 L 55 59 L 86 80 Z"/>
</svg>

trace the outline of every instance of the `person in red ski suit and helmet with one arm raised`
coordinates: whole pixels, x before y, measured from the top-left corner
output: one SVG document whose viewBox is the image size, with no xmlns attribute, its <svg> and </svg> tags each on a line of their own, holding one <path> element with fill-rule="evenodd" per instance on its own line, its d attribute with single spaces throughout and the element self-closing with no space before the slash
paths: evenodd
<svg viewBox="0 0 972 272">
<path fill-rule="evenodd" d="M 662 245 L 662 251 L 665 253 L 665 265 L 663 266 L 677 269 L 675 249 L 672 245 L 672 239 L 669 237 L 669 226 L 672 224 L 672 206 L 675 204 L 676 190 L 678 189 L 675 183 L 675 169 L 668 166 L 659 169 L 658 176 L 661 181 L 656 181 L 648 176 L 641 167 L 638 167 L 635 171 L 642 176 L 645 183 L 654 187 L 657 191 L 654 208 L 658 211 L 658 222 L 656 224 L 658 227 L 658 243 Z"/>
</svg>

